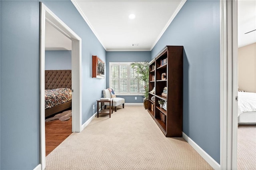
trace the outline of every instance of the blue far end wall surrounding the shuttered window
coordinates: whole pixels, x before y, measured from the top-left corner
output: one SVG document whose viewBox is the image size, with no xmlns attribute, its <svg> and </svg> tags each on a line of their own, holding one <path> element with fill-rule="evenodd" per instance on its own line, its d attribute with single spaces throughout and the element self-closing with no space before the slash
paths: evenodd
<svg viewBox="0 0 256 170">
<path fill-rule="evenodd" d="M 106 86 L 109 87 L 109 62 L 144 62 L 151 61 L 150 51 L 107 51 L 106 52 Z M 125 99 L 125 103 L 143 103 L 144 96 L 118 96 Z M 135 100 L 137 97 L 137 100 Z"/>
</svg>

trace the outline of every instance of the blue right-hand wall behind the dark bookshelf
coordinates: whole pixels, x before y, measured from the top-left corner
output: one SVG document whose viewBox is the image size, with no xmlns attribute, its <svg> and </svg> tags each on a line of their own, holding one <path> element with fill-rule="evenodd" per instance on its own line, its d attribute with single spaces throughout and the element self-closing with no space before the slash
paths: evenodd
<svg viewBox="0 0 256 170">
<path fill-rule="evenodd" d="M 184 46 L 183 132 L 220 163 L 220 1 L 188 0 L 152 50 Z"/>
</svg>

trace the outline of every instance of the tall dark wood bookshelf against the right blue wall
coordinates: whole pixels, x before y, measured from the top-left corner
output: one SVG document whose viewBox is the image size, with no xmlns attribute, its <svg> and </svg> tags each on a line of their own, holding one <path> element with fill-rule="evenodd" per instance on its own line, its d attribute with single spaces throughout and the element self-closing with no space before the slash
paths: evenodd
<svg viewBox="0 0 256 170">
<path fill-rule="evenodd" d="M 149 63 L 148 113 L 166 137 L 182 136 L 183 46 L 166 46 Z M 154 69 L 153 69 L 154 68 Z M 164 88 L 167 88 L 164 91 Z M 152 90 L 155 90 L 152 93 Z M 162 93 L 167 95 L 162 96 Z M 154 96 L 154 101 L 151 98 Z M 159 100 L 167 102 L 166 110 Z M 153 107 L 153 108 L 152 108 Z"/>
</svg>

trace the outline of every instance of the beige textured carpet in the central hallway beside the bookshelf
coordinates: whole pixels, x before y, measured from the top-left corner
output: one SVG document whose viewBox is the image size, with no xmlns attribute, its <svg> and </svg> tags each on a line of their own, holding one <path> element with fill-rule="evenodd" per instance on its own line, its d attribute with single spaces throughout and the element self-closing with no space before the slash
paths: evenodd
<svg viewBox="0 0 256 170">
<path fill-rule="evenodd" d="M 46 157 L 46 170 L 207 170 L 183 138 L 166 138 L 143 106 L 100 115 Z"/>
</svg>

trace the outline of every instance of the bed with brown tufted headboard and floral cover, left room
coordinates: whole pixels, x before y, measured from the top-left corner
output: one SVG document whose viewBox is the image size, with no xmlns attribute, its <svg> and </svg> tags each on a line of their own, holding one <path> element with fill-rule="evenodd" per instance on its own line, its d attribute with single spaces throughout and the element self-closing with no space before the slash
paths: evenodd
<svg viewBox="0 0 256 170">
<path fill-rule="evenodd" d="M 72 106 L 71 70 L 45 70 L 45 117 Z"/>
</svg>

